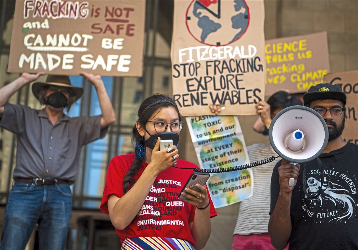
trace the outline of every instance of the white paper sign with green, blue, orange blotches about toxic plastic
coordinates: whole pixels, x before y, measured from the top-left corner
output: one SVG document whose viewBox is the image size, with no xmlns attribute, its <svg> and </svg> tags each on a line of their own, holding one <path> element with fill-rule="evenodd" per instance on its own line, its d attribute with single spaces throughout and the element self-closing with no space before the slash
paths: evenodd
<svg viewBox="0 0 358 250">
<path fill-rule="evenodd" d="M 236 116 L 186 117 L 199 166 L 215 169 L 250 162 L 240 123 Z M 234 204 L 251 197 L 251 169 L 211 174 L 207 186 L 215 207 Z"/>
</svg>

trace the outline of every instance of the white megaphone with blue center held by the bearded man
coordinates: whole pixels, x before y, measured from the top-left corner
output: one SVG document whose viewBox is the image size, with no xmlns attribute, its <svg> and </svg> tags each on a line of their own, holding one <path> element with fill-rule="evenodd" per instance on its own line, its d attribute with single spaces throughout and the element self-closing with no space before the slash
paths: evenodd
<svg viewBox="0 0 358 250">
<path fill-rule="evenodd" d="M 272 119 L 269 139 L 272 148 L 283 159 L 301 163 L 317 158 L 318 165 L 323 168 L 318 156 L 327 146 L 328 127 L 323 117 L 315 110 L 298 105 L 282 109 Z M 323 169 L 321 173 L 323 179 Z M 290 186 L 293 186 L 294 180 L 291 179 Z"/>
</svg>

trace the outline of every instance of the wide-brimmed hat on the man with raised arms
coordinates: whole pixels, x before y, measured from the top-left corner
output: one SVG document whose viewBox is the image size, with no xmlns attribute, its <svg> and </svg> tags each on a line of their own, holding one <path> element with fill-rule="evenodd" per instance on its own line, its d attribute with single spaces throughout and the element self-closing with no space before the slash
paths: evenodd
<svg viewBox="0 0 358 250">
<path fill-rule="evenodd" d="M 72 91 L 71 97 L 74 96 L 74 101 L 77 101 L 79 97 L 83 94 L 83 89 L 81 87 L 75 87 L 71 85 L 68 75 L 48 75 L 46 77 L 46 82 L 34 82 L 32 84 L 31 90 L 37 100 L 39 100 L 40 90 L 44 86 L 59 86 L 59 87 L 68 87 Z"/>
</svg>

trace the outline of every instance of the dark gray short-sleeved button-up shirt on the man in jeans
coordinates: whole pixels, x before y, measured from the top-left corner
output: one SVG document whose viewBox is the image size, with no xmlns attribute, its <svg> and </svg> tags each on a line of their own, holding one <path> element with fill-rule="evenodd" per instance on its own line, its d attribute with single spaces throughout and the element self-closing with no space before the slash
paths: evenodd
<svg viewBox="0 0 358 250">
<path fill-rule="evenodd" d="M 68 117 L 54 125 L 45 109 L 5 104 L 0 126 L 16 134 L 16 165 L 13 178 L 53 178 L 73 182 L 79 153 L 87 143 L 103 138 L 101 116 Z"/>
</svg>

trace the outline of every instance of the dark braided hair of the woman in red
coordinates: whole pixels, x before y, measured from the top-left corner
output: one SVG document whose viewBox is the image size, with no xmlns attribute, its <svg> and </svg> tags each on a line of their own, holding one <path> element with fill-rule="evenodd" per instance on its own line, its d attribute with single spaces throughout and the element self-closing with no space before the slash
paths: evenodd
<svg viewBox="0 0 358 250">
<path fill-rule="evenodd" d="M 138 120 L 139 124 L 145 126 L 149 118 L 153 115 L 153 113 L 159 109 L 160 107 L 169 107 L 173 106 L 178 112 L 179 120 L 181 120 L 181 115 L 178 110 L 178 106 L 171 99 L 170 96 L 162 95 L 162 94 L 154 94 L 147 99 L 145 99 L 139 107 L 138 110 Z M 139 132 L 137 131 L 137 127 L 134 125 L 132 128 L 132 143 L 135 145 L 135 142 L 141 138 Z M 136 149 L 134 149 L 136 150 Z M 131 186 L 134 185 L 135 180 L 132 177 L 138 172 L 140 167 L 142 166 L 141 160 L 134 154 L 134 162 L 133 165 L 128 170 L 126 176 L 123 178 L 123 190 L 126 193 Z"/>
</svg>

